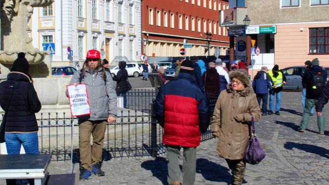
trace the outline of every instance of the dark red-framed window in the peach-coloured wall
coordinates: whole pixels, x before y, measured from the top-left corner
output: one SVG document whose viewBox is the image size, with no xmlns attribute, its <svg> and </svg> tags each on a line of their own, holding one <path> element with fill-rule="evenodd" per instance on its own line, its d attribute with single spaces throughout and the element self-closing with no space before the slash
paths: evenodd
<svg viewBox="0 0 329 185">
<path fill-rule="evenodd" d="M 329 54 L 329 28 L 310 28 L 310 54 Z"/>
</svg>

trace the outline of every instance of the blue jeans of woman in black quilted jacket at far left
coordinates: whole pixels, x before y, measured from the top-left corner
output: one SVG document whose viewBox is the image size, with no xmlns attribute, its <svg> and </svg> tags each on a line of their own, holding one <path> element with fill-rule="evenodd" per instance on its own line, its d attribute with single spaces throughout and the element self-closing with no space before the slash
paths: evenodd
<svg viewBox="0 0 329 185">
<path fill-rule="evenodd" d="M 7 153 L 19 154 L 23 145 L 26 154 L 39 154 L 38 132 L 33 133 L 5 133 Z"/>
</svg>

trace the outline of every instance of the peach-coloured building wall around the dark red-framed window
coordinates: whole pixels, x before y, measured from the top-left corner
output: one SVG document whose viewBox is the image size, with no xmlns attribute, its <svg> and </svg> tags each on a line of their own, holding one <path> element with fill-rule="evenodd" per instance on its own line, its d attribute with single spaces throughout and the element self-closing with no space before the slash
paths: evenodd
<svg viewBox="0 0 329 185">
<path fill-rule="evenodd" d="M 275 64 L 284 68 L 292 65 L 304 65 L 305 61 L 318 58 L 320 65 L 329 66 L 329 55 L 309 54 L 309 28 L 318 27 L 329 27 L 329 22 L 277 24 L 277 33 L 274 38 Z"/>
</svg>

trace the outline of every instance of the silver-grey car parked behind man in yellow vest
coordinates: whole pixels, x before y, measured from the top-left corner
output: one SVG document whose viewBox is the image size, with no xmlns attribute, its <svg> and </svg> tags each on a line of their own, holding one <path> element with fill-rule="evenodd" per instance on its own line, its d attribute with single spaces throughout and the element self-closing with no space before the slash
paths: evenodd
<svg viewBox="0 0 329 185">
<path fill-rule="evenodd" d="M 325 67 L 325 69 L 329 74 L 329 67 Z M 287 78 L 286 84 L 283 85 L 283 89 L 303 89 L 302 74 L 305 70 L 305 66 L 302 65 L 283 68 L 282 72 Z"/>
</svg>

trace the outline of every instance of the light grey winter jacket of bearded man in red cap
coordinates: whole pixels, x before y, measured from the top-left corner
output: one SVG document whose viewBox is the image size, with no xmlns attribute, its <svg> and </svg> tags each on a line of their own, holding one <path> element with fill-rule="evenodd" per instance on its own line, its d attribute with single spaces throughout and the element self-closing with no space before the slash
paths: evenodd
<svg viewBox="0 0 329 185">
<path fill-rule="evenodd" d="M 106 71 L 106 80 L 102 78 L 103 68 L 98 69 L 98 74 L 91 74 L 88 68 L 85 69 L 85 76 L 81 83 L 87 85 L 87 94 L 90 106 L 90 118 L 81 117 L 83 120 L 107 120 L 109 116 L 116 117 L 117 100 L 114 83 L 111 74 Z M 76 70 L 73 74 L 70 84 L 80 82 L 80 70 Z M 81 74 L 82 75 L 82 74 Z"/>
</svg>

